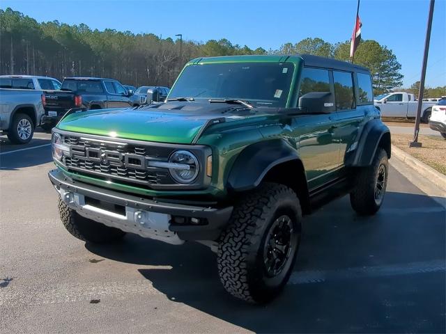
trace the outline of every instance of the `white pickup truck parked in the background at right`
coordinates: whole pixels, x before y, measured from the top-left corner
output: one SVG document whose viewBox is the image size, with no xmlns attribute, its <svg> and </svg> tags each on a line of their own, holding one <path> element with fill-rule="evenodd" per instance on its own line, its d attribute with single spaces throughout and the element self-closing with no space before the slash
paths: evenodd
<svg viewBox="0 0 446 334">
<path fill-rule="evenodd" d="M 429 122 L 432 106 L 437 102 L 422 102 L 421 120 Z M 375 97 L 374 104 L 380 109 L 383 117 L 415 118 L 417 116 L 418 101 L 415 95 L 405 92 L 381 94 Z"/>
</svg>

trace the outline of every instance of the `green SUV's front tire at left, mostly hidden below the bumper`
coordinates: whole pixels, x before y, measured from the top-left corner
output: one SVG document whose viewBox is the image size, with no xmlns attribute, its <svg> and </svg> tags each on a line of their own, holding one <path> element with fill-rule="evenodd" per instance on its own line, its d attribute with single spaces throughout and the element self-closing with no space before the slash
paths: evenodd
<svg viewBox="0 0 446 334">
<path fill-rule="evenodd" d="M 125 235 L 125 232 L 117 228 L 109 228 L 106 225 L 80 216 L 75 210 L 70 209 L 61 198 L 59 198 L 59 215 L 68 232 L 82 241 L 106 244 L 122 239 Z"/>
</svg>

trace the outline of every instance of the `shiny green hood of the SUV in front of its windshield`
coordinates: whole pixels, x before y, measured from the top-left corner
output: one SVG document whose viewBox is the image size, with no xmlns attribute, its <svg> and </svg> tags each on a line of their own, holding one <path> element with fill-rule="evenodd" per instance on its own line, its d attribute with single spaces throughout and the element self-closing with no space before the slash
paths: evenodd
<svg viewBox="0 0 446 334">
<path fill-rule="evenodd" d="M 228 120 L 233 120 L 231 111 L 240 109 L 248 116 L 249 112 L 240 107 L 220 103 L 168 102 L 141 109 L 102 109 L 72 113 L 57 127 L 70 132 L 140 141 L 192 143 L 208 120 L 225 116 L 232 116 Z"/>
</svg>

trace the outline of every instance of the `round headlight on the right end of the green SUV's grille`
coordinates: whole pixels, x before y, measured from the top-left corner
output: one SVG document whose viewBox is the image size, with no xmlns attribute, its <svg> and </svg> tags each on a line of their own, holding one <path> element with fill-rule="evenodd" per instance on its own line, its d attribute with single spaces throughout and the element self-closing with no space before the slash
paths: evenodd
<svg viewBox="0 0 446 334">
<path fill-rule="evenodd" d="M 188 151 L 176 151 L 169 158 L 170 164 L 178 164 L 177 167 L 169 168 L 170 175 L 180 183 L 192 183 L 199 173 L 197 158 Z"/>
</svg>

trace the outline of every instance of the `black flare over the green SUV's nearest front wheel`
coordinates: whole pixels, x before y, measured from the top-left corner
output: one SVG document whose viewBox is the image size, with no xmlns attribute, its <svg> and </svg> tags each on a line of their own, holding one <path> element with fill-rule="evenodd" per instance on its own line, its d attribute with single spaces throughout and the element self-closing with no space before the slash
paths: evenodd
<svg viewBox="0 0 446 334">
<path fill-rule="evenodd" d="M 227 184 L 232 191 L 259 186 L 271 168 L 286 161 L 300 160 L 297 150 L 283 139 L 271 139 L 247 146 L 236 158 Z"/>
</svg>

